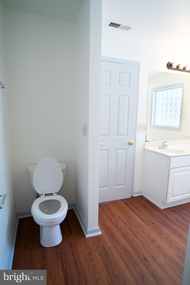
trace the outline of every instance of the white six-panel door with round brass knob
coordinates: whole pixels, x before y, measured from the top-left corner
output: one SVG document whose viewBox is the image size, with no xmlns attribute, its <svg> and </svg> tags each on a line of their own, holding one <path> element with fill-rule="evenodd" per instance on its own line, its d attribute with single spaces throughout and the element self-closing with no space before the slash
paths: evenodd
<svg viewBox="0 0 190 285">
<path fill-rule="evenodd" d="M 99 202 L 132 194 L 138 79 L 139 63 L 102 58 Z"/>
</svg>

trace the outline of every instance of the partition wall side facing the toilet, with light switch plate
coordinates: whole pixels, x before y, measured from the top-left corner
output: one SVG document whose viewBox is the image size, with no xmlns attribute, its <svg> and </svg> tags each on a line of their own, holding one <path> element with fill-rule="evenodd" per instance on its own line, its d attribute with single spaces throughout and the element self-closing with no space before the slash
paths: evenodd
<svg viewBox="0 0 190 285">
<path fill-rule="evenodd" d="M 89 117 L 89 32 L 90 2 L 84 1 L 76 25 L 76 122 L 75 202 L 88 223 L 88 117 Z M 87 125 L 87 137 L 83 136 Z"/>
</svg>

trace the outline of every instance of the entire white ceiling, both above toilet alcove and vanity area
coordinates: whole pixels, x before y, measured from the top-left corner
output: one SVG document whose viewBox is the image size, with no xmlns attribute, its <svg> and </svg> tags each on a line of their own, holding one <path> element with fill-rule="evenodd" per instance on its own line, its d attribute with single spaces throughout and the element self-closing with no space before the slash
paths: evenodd
<svg viewBox="0 0 190 285">
<path fill-rule="evenodd" d="M 4 7 L 74 23 L 84 0 L 1 0 Z M 96 1 L 96 0 L 95 0 Z M 102 29 L 176 47 L 190 45 L 190 0 L 102 0 Z M 110 22 L 132 27 L 109 27 Z"/>
</svg>

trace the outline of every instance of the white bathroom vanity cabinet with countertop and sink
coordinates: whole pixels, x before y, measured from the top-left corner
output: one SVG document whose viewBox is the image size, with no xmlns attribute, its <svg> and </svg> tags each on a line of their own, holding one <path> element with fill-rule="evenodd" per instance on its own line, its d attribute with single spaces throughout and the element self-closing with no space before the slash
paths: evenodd
<svg viewBox="0 0 190 285">
<path fill-rule="evenodd" d="M 159 208 L 190 202 L 190 141 L 145 142 L 143 196 Z"/>
</svg>

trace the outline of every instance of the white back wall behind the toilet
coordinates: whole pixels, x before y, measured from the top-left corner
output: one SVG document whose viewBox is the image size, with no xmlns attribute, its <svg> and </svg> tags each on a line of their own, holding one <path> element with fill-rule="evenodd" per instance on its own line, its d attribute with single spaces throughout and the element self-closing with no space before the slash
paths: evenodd
<svg viewBox="0 0 190 285">
<path fill-rule="evenodd" d="M 28 167 L 44 157 L 67 166 L 59 194 L 75 201 L 74 24 L 5 9 L 17 212 L 35 192 Z"/>
</svg>

